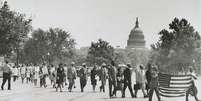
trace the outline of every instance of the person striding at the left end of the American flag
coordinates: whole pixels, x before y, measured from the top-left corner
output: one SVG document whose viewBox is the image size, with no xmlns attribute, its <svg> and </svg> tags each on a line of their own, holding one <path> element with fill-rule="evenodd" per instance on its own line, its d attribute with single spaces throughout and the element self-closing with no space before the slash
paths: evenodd
<svg viewBox="0 0 201 101">
<path fill-rule="evenodd" d="M 158 68 L 153 66 L 151 68 L 151 81 L 149 83 L 149 101 L 152 101 L 152 96 L 155 91 L 158 101 L 161 101 L 159 90 L 158 90 Z"/>
</svg>

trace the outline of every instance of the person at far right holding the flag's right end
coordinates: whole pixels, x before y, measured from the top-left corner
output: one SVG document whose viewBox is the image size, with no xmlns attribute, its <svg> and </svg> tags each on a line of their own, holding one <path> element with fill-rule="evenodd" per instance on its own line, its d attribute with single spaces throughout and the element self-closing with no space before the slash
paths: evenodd
<svg viewBox="0 0 201 101">
<path fill-rule="evenodd" d="M 196 101 L 201 101 L 197 97 L 197 88 L 195 86 L 195 81 L 194 81 L 197 79 L 197 76 L 196 76 L 195 72 L 193 71 L 192 67 L 189 68 L 189 72 L 190 72 L 190 76 L 191 76 L 191 86 L 189 87 L 189 89 L 186 92 L 186 101 L 188 101 L 188 96 L 190 93 L 192 93 L 192 95 L 194 96 Z"/>
</svg>

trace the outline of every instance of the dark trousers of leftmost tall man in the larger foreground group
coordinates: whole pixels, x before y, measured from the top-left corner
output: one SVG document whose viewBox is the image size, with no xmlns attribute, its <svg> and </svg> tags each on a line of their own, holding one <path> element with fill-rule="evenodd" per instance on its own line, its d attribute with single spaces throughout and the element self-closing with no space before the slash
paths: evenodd
<svg viewBox="0 0 201 101">
<path fill-rule="evenodd" d="M 116 95 L 116 81 L 109 80 L 109 96 L 112 97 L 113 95 Z"/>
</svg>

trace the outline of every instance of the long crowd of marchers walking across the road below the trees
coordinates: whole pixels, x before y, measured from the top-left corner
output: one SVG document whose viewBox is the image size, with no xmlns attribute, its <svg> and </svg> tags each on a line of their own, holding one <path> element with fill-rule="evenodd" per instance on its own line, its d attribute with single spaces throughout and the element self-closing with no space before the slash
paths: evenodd
<svg viewBox="0 0 201 101">
<path fill-rule="evenodd" d="M 58 64 L 58 66 L 45 63 L 41 65 L 20 64 L 17 66 L 5 61 L 2 71 L 2 90 L 4 90 L 6 81 L 8 81 L 8 90 L 11 90 L 11 77 L 13 77 L 13 82 L 21 79 L 22 84 L 33 83 L 34 86 L 38 85 L 39 80 L 40 87 L 44 88 L 47 87 L 46 80 L 49 78 L 51 86 L 56 91 L 59 89 L 62 92 L 64 86 L 68 86 L 68 91 L 72 92 L 73 88 L 76 88 L 75 80 L 79 78 L 80 91 L 84 92 L 88 78 L 90 78 L 93 91 L 96 91 L 97 82 L 100 82 L 99 90 L 100 92 L 105 92 L 106 82 L 108 82 L 110 98 L 116 97 L 117 91 L 121 92 L 122 98 L 126 97 L 125 91 L 128 88 L 132 98 L 138 97 L 138 90 L 142 90 L 144 98 L 148 97 L 149 101 L 152 101 L 153 92 L 155 91 L 158 101 L 161 101 L 158 89 L 159 70 L 156 65 L 150 63 L 146 67 L 143 65 L 132 67 L 129 63 L 116 65 L 112 61 L 110 64 L 102 63 L 101 66 L 94 65 L 89 69 L 85 63 L 80 68 L 77 68 L 74 62 L 69 66 L 62 63 Z M 132 87 L 133 72 L 135 72 L 135 83 Z M 190 72 L 192 72 L 192 69 Z M 193 78 L 196 77 L 193 76 Z M 189 95 L 189 93 L 187 94 Z M 199 101 L 198 98 L 196 98 L 196 101 Z"/>
</svg>

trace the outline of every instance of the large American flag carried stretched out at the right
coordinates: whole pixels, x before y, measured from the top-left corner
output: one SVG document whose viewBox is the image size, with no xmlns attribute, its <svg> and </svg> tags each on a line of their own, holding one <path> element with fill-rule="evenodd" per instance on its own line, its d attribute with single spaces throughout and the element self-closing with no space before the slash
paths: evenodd
<svg viewBox="0 0 201 101">
<path fill-rule="evenodd" d="M 159 73 L 159 93 L 161 96 L 185 96 L 185 93 L 191 84 L 190 75 L 171 75 Z"/>
</svg>

